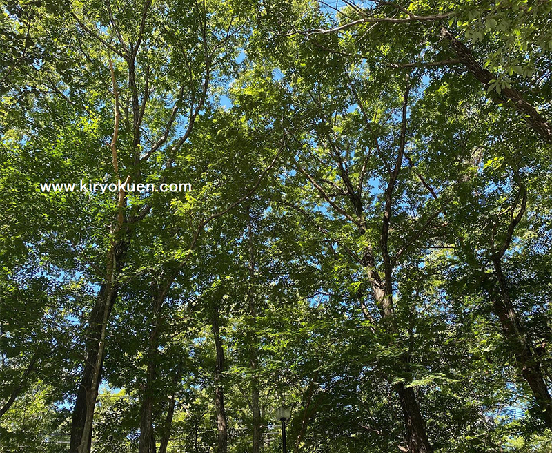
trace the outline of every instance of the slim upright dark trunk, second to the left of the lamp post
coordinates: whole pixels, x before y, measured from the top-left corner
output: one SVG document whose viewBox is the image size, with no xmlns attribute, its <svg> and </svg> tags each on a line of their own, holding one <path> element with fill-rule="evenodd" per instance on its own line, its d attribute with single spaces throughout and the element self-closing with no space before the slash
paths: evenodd
<svg viewBox="0 0 552 453">
<path fill-rule="evenodd" d="M 222 386 L 222 372 L 224 371 L 224 348 L 220 335 L 219 307 L 213 307 L 213 336 L 215 337 L 215 349 L 217 360 L 215 363 L 215 408 L 217 410 L 217 453 L 228 451 L 228 430 L 226 423 L 226 411 L 224 410 L 224 388 Z"/>
</svg>

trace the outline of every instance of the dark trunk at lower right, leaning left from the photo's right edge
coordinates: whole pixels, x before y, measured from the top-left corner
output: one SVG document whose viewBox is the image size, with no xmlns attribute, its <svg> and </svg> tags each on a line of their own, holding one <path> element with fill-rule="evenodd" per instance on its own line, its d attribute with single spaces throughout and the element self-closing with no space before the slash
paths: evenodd
<svg viewBox="0 0 552 453">
<path fill-rule="evenodd" d="M 535 358 L 534 346 L 524 331 L 511 302 L 509 289 L 506 285 L 506 276 L 502 271 L 502 263 L 499 257 L 495 256 L 493 258 L 493 265 L 500 288 L 500 298 L 493 297 L 495 314 L 500 320 L 504 336 L 509 340 L 515 351 L 518 374 L 529 385 L 535 401 L 542 411 L 542 417 L 546 425 L 552 428 L 552 398 L 541 365 Z"/>
</svg>

